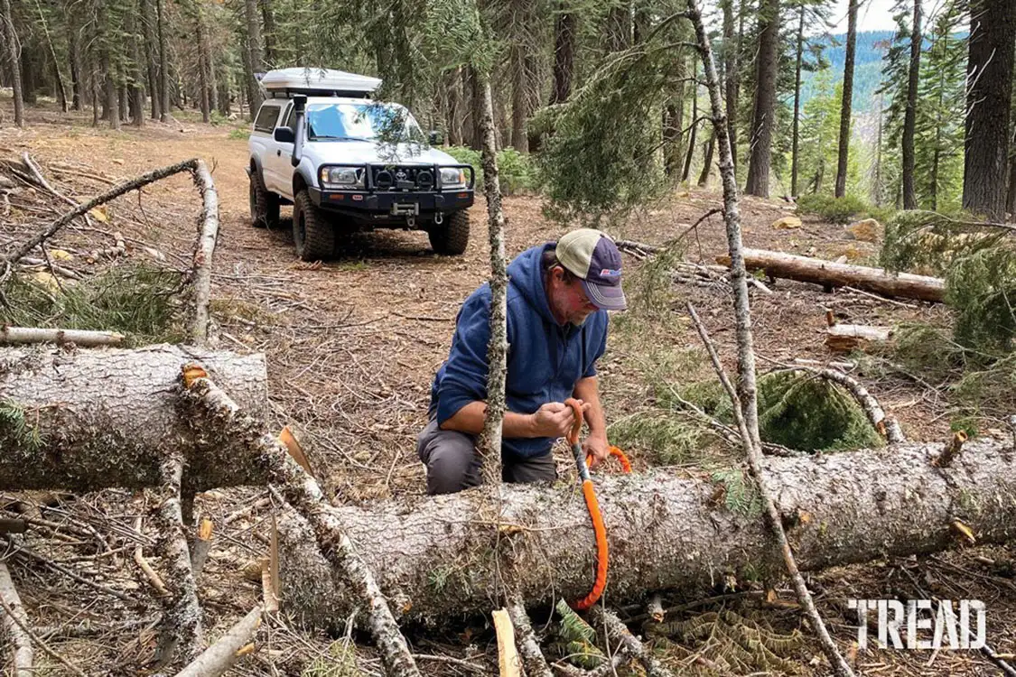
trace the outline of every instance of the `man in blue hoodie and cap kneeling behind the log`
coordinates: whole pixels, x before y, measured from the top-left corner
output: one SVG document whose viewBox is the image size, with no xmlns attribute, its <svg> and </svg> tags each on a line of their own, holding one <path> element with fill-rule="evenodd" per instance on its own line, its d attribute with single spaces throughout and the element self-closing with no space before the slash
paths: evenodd
<svg viewBox="0 0 1016 677">
<path fill-rule="evenodd" d="M 607 347 L 607 311 L 627 307 L 621 253 L 607 233 L 581 228 L 522 252 L 508 266 L 508 279 L 502 477 L 555 479 L 551 447 L 574 420 L 564 404 L 569 397 L 582 402 L 589 426 L 583 447 L 595 466 L 610 449 L 595 364 Z M 481 482 L 475 445 L 487 415 L 490 308 L 484 284 L 462 303 L 448 359 L 434 378 L 431 420 L 417 441 L 431 494 Z"/>
</svg>

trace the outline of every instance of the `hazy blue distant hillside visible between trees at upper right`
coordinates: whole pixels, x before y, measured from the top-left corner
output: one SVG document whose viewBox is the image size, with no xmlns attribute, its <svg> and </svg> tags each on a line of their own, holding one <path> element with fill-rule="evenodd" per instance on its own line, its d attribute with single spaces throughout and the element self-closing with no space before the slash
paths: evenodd
<svg viewBox="0 0 1016 677">
<path fill-rule="evenodd" d="M 855 114 L 875 113 L 878 98 L 875 90 L 882 83 L 882 59 L 892 42 L 892 30 L 868 30 L 858 33 L 858 51 L 853 62 L 852 109 Z M 846 59 L 846 33 L 832 36 L 825 41 L 823 55 L 829 62 L 830 86 L 843 79 L 843 61 Z M 801 99 L 804 101 L 815 95 L 815 73 L 806 72 L 801 76 Z"/>
</svg>

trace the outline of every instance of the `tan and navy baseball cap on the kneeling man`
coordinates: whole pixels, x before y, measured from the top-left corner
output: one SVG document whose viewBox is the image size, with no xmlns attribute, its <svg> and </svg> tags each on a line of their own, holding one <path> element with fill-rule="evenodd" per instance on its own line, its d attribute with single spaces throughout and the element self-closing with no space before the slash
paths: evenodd
<svg viewBox="0 0 1016 677">
<path fill-rule="evenodd" d="M 582 281 L 593 306 L 604 311 L 628 308 L 621 289 L 621 252 L 606 232 L 593 228 L 567 232 L 558 241 L 555 255 Z"/>
</svg>

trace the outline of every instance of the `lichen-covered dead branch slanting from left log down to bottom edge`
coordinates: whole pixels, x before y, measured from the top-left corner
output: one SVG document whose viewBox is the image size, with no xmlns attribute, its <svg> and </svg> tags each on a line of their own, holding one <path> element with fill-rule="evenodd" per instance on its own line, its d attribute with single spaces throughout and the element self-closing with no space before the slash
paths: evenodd
<svg viewBox="0 0 1016 677">
<path fill-rule="evenodd" d="M 385 670 L 393 677 L 419 677 L 420 671 L 409 654 L 388 602 L 381 593 L 374 573 L 353 547 L 335 514 L 330 510 L 317 480 L 307 474 L 285 446 L 262 430 L 262 425 L 240 410 L 229 395 L 208 379 L 197 364 L 184 367 L 185 404 L 203 413 L 211 429 L 224 437 L 243 444 L 264 464 L 274 481 L 282 486 L 287 501 L 313 527 L 323 554 L 343 573 L 369 609 L 371 635 L 381 652 Z"/>
</svg>

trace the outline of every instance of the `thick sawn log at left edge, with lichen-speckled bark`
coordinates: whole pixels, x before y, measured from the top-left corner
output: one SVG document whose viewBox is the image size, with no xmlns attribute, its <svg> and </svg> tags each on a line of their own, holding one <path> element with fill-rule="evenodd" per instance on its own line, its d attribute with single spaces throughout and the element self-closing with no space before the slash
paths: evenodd
<svg viewBox="0 0 1016 677">
<path fill-rule="evenodd" d="M 0 489 L 161 486 L 160 463 L 171 451 L 186 460 L 185 493 L 265 484 L 262 466 L 243 462 L 241 450 L 197 453 L 200 439 L 178 411 L 180 368 L 195 359 L 264 420 L 262 355 L 170 345 L 0 348 Z"/>
</svg>

